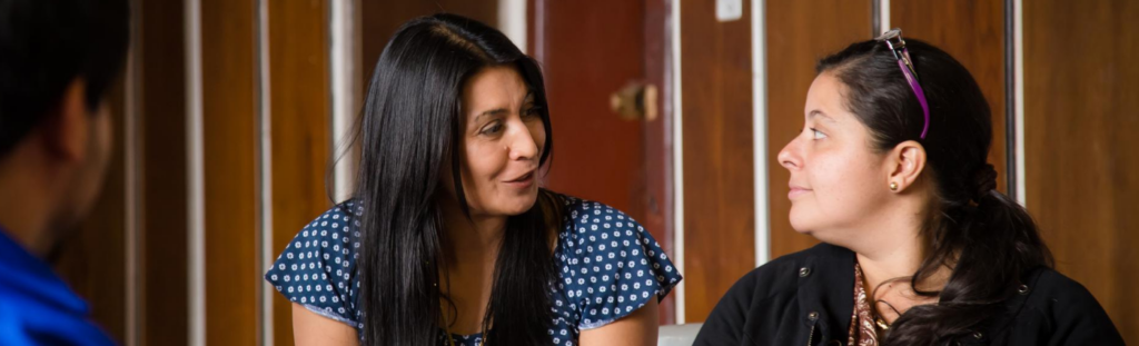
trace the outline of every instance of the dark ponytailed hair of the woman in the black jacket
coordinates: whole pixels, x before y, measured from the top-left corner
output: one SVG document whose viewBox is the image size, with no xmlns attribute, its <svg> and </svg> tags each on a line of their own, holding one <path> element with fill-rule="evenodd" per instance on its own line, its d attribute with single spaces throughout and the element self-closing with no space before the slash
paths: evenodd
<svg viewBox="0 0 1139 346">
<path fill-rule="evenodd" d="M 925 139 L 921 106 L 885 43 L 851 44 L 817 69 L 846 86 L 844 104 L 869 127 L 874 149 L 885 153 L 913 140 L 926 150 L 921 179 L 932 182 L 935 197 L 921 230 L 926 255 L 910 286 L 940 300 L 902 314 L 883 344 L 939 345 L 975 331 L 1016 294 L 1023 275 L 1051 267 L 1052 258 L 1029 213 L 993 189 L 995 173 L 985 162 L 992 115 L 976 81 L 941 49 L 913 39 L 906 43 L 929 105 Z M 945 287 L 919 290 L 918 282 L 942 266 L 953 270 Z"/>
</svg>

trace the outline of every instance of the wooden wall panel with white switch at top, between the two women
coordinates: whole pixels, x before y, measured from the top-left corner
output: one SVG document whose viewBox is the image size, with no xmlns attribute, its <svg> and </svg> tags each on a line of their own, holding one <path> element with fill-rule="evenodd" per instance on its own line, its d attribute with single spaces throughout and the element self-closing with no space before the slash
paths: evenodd
<svg viewBox="0 0 1139 346">
<path fill-rule="evenodd" d="M 752 19 L 745 3 L 744 17 L 726 23 L 716 20 L 714 1 L 682 1 L 679 9 L 689 323 L 704 321 L 755 267 Z"/>
</svg>

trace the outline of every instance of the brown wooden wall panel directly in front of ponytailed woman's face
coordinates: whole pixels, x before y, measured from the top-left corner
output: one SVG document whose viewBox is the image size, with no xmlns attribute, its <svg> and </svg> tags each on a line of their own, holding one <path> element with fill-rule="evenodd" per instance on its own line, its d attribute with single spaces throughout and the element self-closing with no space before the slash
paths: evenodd
<svg viewBox="0 0 1139 346">
<path fill-rule="evenodd" d="M 818 244 L 790 226 L 790 176 L 776 157 L 803 129 L 803 105 L 816 63 L 871 39 L 871 9 L 866 0 L 767 1 L 767 6 L 768 200 L 771 258 L 776 258 Z"/>
</svg>

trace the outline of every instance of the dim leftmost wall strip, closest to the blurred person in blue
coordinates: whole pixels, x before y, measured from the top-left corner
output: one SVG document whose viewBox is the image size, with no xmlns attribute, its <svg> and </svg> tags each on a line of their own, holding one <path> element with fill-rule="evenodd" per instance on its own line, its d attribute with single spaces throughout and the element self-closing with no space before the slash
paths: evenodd
<svg viewBox="0 0 1139 346">
<path fill-rule="evenodd" d="M 126 336 L 123 344 L 139 344 L 139 49 L 141 49 L 139 31 L 141 28 L 140 0 L 131 0 L 130 50 L 126 52 L 126 76 L 123 79 L 125 100 L 123 102 L 123 196 L 124 225 L 126 238 L 126 290 L 123 300 L 126 302 Z"/>
</svg>

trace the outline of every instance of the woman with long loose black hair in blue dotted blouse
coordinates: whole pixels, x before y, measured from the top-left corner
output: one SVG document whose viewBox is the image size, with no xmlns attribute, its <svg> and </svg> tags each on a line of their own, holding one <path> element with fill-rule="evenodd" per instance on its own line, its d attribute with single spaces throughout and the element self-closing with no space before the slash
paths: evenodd
<svg viewBox="0 0 1139 346">
<path fill-rule="evenodd" d="M 532 58 L 436 15 L 375 71 L 354 196 L 265 273 L 298 345 L 656 344 L 680 274 L 620 211 L 539 187 L 552 133 Z"/>
</svg>

